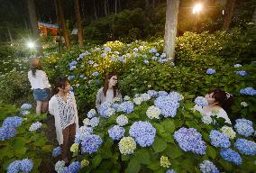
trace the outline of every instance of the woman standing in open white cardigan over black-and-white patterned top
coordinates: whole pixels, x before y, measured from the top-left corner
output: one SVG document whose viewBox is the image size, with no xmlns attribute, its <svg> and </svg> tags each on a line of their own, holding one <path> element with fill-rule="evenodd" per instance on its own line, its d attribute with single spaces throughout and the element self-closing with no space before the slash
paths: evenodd
<svg viewBox="0 0 256 173">
<path fill-rule="evenodd" d="M 78 131 L 78 110 L 75 96 L 70 92 L 69 80 L 66 77 L 57 78 L 53 94 L 49 102 L 49 112 L 54 115 L 56 135 L 61 147 L 61 158 L 69 163 L 69 138 L 75 141 Z"/>
</svg>

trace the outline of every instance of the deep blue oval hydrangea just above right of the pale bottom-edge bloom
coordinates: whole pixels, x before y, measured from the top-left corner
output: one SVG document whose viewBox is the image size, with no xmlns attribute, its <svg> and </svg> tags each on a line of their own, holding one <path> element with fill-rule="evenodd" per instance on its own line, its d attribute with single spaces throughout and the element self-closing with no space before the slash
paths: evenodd
<svg viewBox="0 0 256 173">
<path fill-rule="evenodd" d="M 220 154 L 222 159 L 226 161 L 233 162 L 235 165 L 242 164 L 241 156 L 232 149 L 222 149 Z"/>
</svg>

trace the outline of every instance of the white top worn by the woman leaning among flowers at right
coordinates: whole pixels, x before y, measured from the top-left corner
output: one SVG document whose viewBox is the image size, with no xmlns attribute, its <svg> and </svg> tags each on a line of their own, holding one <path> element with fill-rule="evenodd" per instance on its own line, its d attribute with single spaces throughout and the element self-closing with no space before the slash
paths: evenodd
<svg viewBox="0 0 256 173">
<path fill-rule="evenodd" d="M 224 111 L 223 108 L 220 108 L 217 111 L 206 112 L 206 110 L 204 110 L 202 106 L 195 105 L 194 109 L 197 110 L 198 112 L 200 112 L 203 116 L 213 116 L 213 115 L 216 115 L 217 118 L 224 118 L 225 119 L 225 123 L 230 123 L 231 124 L 231 121 L 230 121 L 229 117 L 227 116 L 227 114 L 226 114 L 226 112 Z"/>
</svg>

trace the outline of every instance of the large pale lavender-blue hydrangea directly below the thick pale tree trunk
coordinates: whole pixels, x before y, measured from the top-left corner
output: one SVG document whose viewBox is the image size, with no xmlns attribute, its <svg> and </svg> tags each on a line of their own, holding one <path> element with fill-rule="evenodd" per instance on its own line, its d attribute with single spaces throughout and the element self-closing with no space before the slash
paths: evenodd
<svg viewBox="0 0 256 173">
<path fill-rule="evenodd" d="M 177 114 L 179 107 L 178 101 L 173 100 L 169 96 L 159 96 L 155 101 L 154 105 L 160 108 L 161 114 L 164 117 L 174 117 Z"/>
</svg>

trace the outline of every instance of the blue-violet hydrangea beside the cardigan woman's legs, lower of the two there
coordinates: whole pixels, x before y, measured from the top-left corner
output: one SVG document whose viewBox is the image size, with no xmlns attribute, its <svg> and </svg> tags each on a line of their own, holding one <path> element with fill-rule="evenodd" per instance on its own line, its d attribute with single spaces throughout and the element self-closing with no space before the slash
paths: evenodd
<svg viewBox="0 0 256 173">
<path fill-rule="evenodd" d="M 82 153 L 86 152 L 88 154 L 91 154 L 93 152 L 96 152 L 101 144 L 102 139 L 100 138 L 100 136 L 95 134 L 87 135 L 84 141 L 81 142 Z"/>
</svg>

